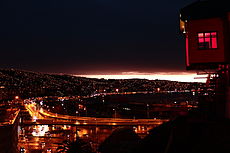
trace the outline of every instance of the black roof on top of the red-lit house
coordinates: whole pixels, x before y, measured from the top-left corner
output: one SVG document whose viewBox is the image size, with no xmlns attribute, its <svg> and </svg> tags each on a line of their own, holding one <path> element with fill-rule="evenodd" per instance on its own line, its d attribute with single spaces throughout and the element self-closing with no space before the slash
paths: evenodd
<svg viewBox="0 0 230 153">
<path fill-rule="evenodd" d="M 221 17 L 226 12 L 230 12 L 230 5 L 226 0 L 199 0 L 180 10 L 183 21 Z"/>
</svg>

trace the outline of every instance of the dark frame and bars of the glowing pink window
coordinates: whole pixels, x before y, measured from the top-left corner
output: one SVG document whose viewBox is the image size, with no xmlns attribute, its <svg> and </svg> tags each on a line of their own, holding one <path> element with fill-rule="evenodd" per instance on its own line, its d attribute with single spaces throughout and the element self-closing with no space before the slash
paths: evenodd
<svg viewBox="0 0 230 153">
<path fill-rule="evenodd" d="M 216 48 L 201 48 L 200 47 L 200 42 L 199 42 L 199 34 L 200 33 L 202 33 L 203 34 L 203 39 L 205 39 L 205 34 L 206 33 L 209 33 L 210 34 L 210 37 L 207 37 L 207 38 L 209 38 L 209 39 L 212 39 L 212 35 L 211 35 L 211 33 L 213 33 L 213 32 L 215 32 L 216 33 L 216 45 L 217 45 L 217 47 Z M 218 49 L 219 48 L 219 45 L 218 45 L 218 32 L 217 31 L 205 31 L 205 32 L 197 32 L 197 35 L 196 35 L 196 39 L 197 39 L 197 48 L 198 48 L 198 50 L 216 50 L 216 49 Z M 204 40 L 204 42 L 205 42 L 205 40 Z M 210 43 L 211 43 L 211 45 L 212 45 L 212 41 L 210 41 Z"/>
</svg>

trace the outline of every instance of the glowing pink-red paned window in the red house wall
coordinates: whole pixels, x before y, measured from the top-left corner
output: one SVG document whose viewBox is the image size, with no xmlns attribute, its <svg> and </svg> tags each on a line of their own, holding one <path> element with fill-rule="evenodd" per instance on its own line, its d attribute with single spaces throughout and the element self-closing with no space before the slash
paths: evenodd
<svg viewBox="0 0 230 153">
<path fill-rule="evenodd" d="M 217 48 L 217 32 L 198 33 L 199 49 L 215 49 Z"/>
</svg>

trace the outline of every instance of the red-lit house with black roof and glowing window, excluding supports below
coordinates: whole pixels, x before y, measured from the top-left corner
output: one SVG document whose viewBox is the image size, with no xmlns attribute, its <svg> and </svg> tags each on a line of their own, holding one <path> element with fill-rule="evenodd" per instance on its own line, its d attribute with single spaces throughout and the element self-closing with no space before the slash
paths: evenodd
<svg viewBox="0 0 230 153">
<path fill-rule="evenodd" d="M 200 0 L 180 11 L 186 39 L 186 67 L 215 69 L 230 63 L 230 6 L 223 0 Z"/>
</svg>

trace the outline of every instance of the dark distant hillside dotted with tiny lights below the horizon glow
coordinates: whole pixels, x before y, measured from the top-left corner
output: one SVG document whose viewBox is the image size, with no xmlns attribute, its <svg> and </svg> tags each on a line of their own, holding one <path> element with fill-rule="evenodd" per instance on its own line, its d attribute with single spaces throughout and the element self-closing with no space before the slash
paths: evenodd
<svg viewBox="0 0 230 153">
<path fill-rule="evenodd" d="M 96 79 L 67 74 L 48 74 L 0 69 L 0 100 L 38 96 L 87 96 L 110 92 L 189 92 L 205 84 L 147 79 Z"/>
</svg>

